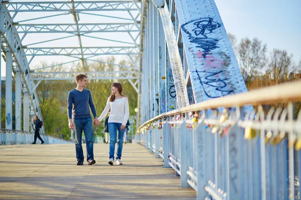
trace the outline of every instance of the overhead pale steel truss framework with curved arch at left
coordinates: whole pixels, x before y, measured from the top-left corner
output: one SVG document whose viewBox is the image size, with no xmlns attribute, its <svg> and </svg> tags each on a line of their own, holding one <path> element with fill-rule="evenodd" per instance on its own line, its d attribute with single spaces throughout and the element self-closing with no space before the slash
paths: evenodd
<svg viewBox="0 0 301 200">
<path fill-rule="evenodd" d="M 138 92 L 139 91 L 139 82 L 140 82 L 140 72 L 138 71 L 138 61 L 140 44 L 140 17 L 141 17 L 141 1 L 138 0 L 125 0 L 125 1 L 57 1 L 57 2 L 9 2 L 4 0 L 0 2 L 1 4 L 1 20 L 0 20 L 0 31 L 1 31 L 1 48 L 4 53 L 4 59 L 6 60 L 7 69 L 10 71 L 13 70 L 16 78 L 16 95 L 18 93 L 18 100 L 16 104 L 21 106 L 21 95 L 24 96 L 24 130 L 29 130 L 29 119 L 30 114 L 38 115 L 40 119 L 42 118 L 38 96 L 36 88 L 42 80 L 49 79 L 74 79 L 74 76 L 77 72 L 34 72 L 30 68 L 30 64 L 34 63 L 33 60 L 37 56 L 45 55 L 64 55 L 72 58 L 76 58 L 73 61 L 63 61 L 53 60 L 54 62 L 61 64 L 68 64 L 75 61 L 81 61 L 82 66 L 85 70 L 86 61 L 93 62 L 102 62 L 106 64 L 113 64 L 121 68 L 127 68 L 129 71 L 115 71 L 113 72 L 85 72 L 89 79 L 127 79 L 133 88 Z M 105 12 L 99 12 L 105 11 Z M 107 11 L 112 11 L 112 14 L 107 14 Z M 20 12 L 23 12 L 22 14 Z M 24 13 L 27 12 L 43 12 L 44 16 L 41 15 L 27 15 L 24 17 Z M 20 13 L 20 14 L 18 14 Z M 118 13 L 118 14 L 116 14 Z M 122 13 L 120 16 L 119 14 Z M 123 14 L 124 13 L 124 14 Z M 72 16 L 70 16 L 72 15 Z M 80 19 L 80 15 L 91 15 L 93 18 L 100 17 L 97 21 L 106 21 L 106 22 L 89 22 Z M 70 17 L 73 18 L 74 23 L 39 23 L 41 19 L 48 19 L 51 17 Z M 106 17 L 103 20 L 101 17 Z M 85 18 L 85 17 L 83 17 Z M 115 21 L 110 22 L 107 19 L 112 19 Z M 97 18 L 98 19 L 98 18 Z M 120 20 L 116 22 L 116 19 Z M 29 23 L 30 21 L 30 23 Z M 100 33 L 118 33 L 117 38 L 113 38 L 111 35 L 108 36 L 99 36 Z M 28 43 L 27 38 L 32 33 L 69 33 L 70 36 L 59 36 L 57 38 L 51 39 L 48 36 L 45 36 L 42 41 L 35 41 L 33 38 Z M 20 36 L 19 36 L 20 34 Z M 85 42 L 82 41 L 82 36 L 88 38 L 85 41 L 90 41 L 92 39 L 96 40 L 90 45 L 85 45 Z M 124 36 L 127 36 L 129 39 L 125 39 Z M 60 46 L 51 46 L 51 45 L 41 45 L 38 44 L 51 42 L 55 44 L 57 40 L 64 40 L 69 37 L 77 37 L 77 42 L 75 45 L 67 45 L 64 47 Z M 43 38 L 43 37 L 42 37 Z M 102 42 L 99 40 L 106 40 L 109 42 L 116 42 L 112 45 L 106 46 L 101 45 Z M 27 41 L 27 42 L 26 42 Z M 64 43 L 65 44 L 65 43 Z M 130 45 L 130 46 L 124 46 Z M 76 46 L 78 45 L 78 46 Z M 42 47 L 43 46 L 43 47 Z M 46 46 L 46 47 L 45 47 Z M 71 46 L 71 47 L 70 47 Z M 88 46 L 88 47 L 87 47 Z M 11 54 L 10 54 L 11 53 Z M 115 64 L 99 60 L 97 55 L 126 55 L 128 59 L 132 62 L 131 64 Z M 10 56 L 12 58 L 10 58 Z M 11 63 L 11 69 L 8 67 Z M 48 68 L 48 71 L 51 67 L 61 65 L 53 64 L 45 67 L 40 67 L 39 70 Z M 126 69 L 126 70 L 127 70 Z M 132 71 L 130 71 L 132 70 Z M 7 87 L 6 89 L 10 91 L 11 83 L 10 78 L 7 73 Z M 20 84 L 19 84 L 20 82 Z M 21 83 L 22 82 L 22 83 Z M 23 92 L 23 93 L 22 93 Z M 8 92 L 7 92 L 8 93 Z M 10 94 L 8 94 L 10 96 Z M 17 99 L 17 96 L 16 96 Z M 29 102 L 27 102 L 27 99 Z M 8 97 L 7 105 L 12 107 L 12 99 Z M 18 101 L 18 102 L 17 102 Z M 11 104 L 11 105 L 10 105 Z M 31 107 L 31 109 L 30 109 Z M 16 105 L 17 109 L 17 105 Z M 18 108 L 19 109 L 19 108 Z M 9 115 L 13 116 L 12 111 L 9 109 L 7 112 L 10 112 Z M 21 109 L 20 109 L 21 110 Z M 0 110 L 1 111 L 1 110 Z M 21 112 L 21 111 L 20 111 Z M 17 117 L 20 118 L 21 123 L 21 114 L 16 112 Z M 17 120 L 19 121 L 19 119 Z M 21 125 L 16 126 L 16 128 L 21 129 Z M 8 129 L 11 129 L 10 127 Z M 43 132 L 44 127 L 43 127 Z"/>
</svg>

